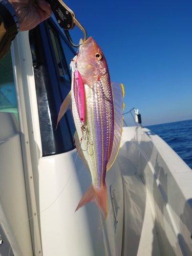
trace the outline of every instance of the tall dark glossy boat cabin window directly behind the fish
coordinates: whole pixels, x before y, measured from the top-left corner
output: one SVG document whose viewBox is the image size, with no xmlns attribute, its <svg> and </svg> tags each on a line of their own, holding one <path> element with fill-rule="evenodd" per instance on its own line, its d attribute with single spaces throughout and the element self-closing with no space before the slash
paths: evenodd
<svg viewBox="0 0 192 256">
<path fill-rule="evenodd" d="M 71 90 L 69 62 L 75 56 L 65 45 L 65 36 L 54 25 L 52 18 L 30 31 L 37 94 L 42 155 L 60 154 L 72 150 L 75 126 L 71 111 L 61 118 L 56 129 L 60 105 Z M 66 43 L 67 44 L 67 43 Z M 55 130 L 56 129 L 56 130 Z"/>
</svg>

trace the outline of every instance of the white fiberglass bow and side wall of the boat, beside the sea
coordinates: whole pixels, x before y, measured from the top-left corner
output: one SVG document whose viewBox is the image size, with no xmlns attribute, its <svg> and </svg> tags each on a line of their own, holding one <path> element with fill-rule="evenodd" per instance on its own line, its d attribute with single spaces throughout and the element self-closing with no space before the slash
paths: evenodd
<svg viewBox="0 0 192 256">
<path fill-rule="evenodd" d="M 191 169 L 172 148 L 148 129 L 125 127 L 121 152 L 131 161 L 145 185 L 161 255 L 190 255 Z M 136 187 L 133 201 L 147 201 L 143 198 L 144 193 L 138 193 L 139 186 Z M 127 200 L 130 201 L 130 197 Z M 127 232 L 131 232 L 129 228 Z"/>
</svg>

